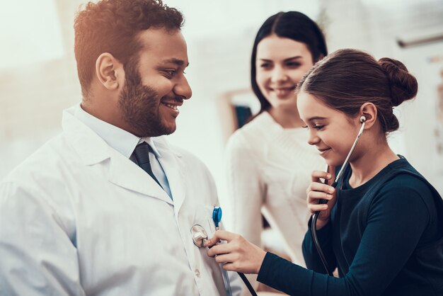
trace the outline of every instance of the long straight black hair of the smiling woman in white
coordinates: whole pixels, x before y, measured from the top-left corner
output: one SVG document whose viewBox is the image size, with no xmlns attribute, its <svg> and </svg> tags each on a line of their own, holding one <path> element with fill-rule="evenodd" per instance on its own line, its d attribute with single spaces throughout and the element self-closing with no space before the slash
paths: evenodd
<svg viewBox="0 0 443 296">
<path fill-rule="evenodd" d="M 317 62 L 321 57 L 328 55 L 326 41 L 321 29 L 318 28 L 318 25 L 308 16 L 298 11 L 288 11 L 279 12 L 267 18 L 255 36 L 251 55 L 251 85 L 255 96 L 257 96 L 258 101 L 260 101 L 260 112 L 258 114 L 268 110 L 270 103 L 265 96 L 263 96 L 255 80 L 257 45 L 263 38 L 272 34 L 306 44 L 306 47 L 308 47 L 308 50 L 311 52 L 313 63 Z"/>
</svg>

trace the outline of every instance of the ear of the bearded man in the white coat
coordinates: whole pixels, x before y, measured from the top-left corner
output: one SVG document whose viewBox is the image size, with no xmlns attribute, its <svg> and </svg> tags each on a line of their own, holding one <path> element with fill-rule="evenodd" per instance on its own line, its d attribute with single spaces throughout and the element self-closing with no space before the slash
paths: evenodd
<svg viewBox="0 0 443 296">
<path fill-rule="evenodd" d="M 100 84 L 113 91 L 124 84 L 123 64 L 108 52 L 103 52 L 96 60 L 96 76 Z"/>
</svg>

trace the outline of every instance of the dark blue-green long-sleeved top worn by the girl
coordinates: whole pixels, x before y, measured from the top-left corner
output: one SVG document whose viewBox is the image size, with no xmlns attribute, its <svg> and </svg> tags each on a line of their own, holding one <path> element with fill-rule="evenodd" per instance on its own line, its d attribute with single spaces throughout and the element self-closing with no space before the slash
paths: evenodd
<svg viewBox="0 0 443 296">
<path fill-rule="evenodd" d="M 258 280 L 290 295 L 442 295 L 443 266 L 423 268 L 415 256 L 426 246 L 432 248 L 422 252 L 438 253 L 443 247 L 442 220 L 430 187 L 401 173 L 384 183 L 369 208 L 362 206 L 384 174 L 404 167 L 413 169 L 406 159 L 393 161 L 357 188 L 349 186 L 350 172 L 343 176 L 330 222 L 317 232 L 328 266 L 337 267 L 340 278 L 325 274 L 309 229 L 303 244 L 309 269 L 267 253 Z"/>
</svg>

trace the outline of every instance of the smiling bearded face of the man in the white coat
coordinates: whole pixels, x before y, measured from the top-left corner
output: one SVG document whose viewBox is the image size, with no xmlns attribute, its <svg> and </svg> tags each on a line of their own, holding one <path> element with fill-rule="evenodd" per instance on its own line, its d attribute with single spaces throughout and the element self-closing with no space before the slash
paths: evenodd
<svg viewBox="0 0 443 296">
<path fill-rule="evenodd" d="M 192 91 L 185 78 L 186 42 L 180 30 L 144 30 L 138 35 L 142 49 L 125 65 L 125 85 L 118 98 L 126 130 L 138 137 L 169 135 Z"/>
</svg>

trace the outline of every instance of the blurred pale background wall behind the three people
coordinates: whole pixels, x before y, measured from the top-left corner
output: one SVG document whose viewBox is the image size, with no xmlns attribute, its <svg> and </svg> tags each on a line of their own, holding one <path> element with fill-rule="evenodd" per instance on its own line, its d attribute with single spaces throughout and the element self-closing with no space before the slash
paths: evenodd
<svg viewBox="0 0 443 296">
<path fill-rule="evenodd" d="M 353 47 L 405 62 L 420 91 L 396 113 L 391 145 L 443 193 L 443 0 L 164 0 L 185 14 L 193 90 L 170 141 L 192 151 L 224 194 L 232 104 L 256 108 L 249 83 L 253 38 L 265 19 L 297 10 L 321 24 L 333 52 Z M 81 100 L 74 15 L 82 0 L 0 0 L 0 179 L 61 131 Z M 44 168 L 42 168 L 44 169 Z"/>
</svg>

